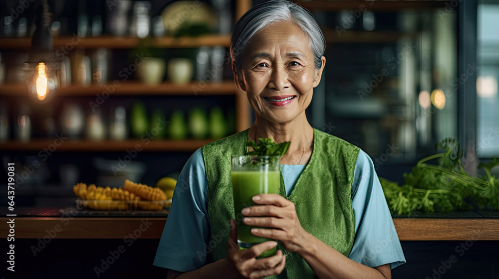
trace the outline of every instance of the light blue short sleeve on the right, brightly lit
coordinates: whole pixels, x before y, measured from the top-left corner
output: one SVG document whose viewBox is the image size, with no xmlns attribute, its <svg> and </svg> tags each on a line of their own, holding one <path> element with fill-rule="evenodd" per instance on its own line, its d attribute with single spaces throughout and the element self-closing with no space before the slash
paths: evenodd
<svg viewBox="0 0 499 279">
<path fill-rule="evenodd" d="M 349 259 L 394 269 L 406 262 L 404 252 L 371 158 L 360 150 L 352 183 L 355 240 Z"/>
</svg>

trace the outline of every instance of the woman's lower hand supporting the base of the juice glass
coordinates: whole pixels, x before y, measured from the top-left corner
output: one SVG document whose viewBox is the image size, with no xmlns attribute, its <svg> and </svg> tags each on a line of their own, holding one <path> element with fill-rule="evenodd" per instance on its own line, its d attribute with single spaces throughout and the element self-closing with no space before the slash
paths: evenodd
<svg viewBox="0 0 499 279">
<path fill-rule="evenodd" d="M 231 235 L 227 243 L 227 260 L 229 260 L 242 278 L 263 278 L 280 274 L 284 270 L 286 257 L 278 250 L 274 256 L 255 259 L 261 253 L 277 246 L 275 241 L 266 241 L 254 245 L 248 250 L 240 250 L 236 222 L 231 219 Z"/>
</svg>

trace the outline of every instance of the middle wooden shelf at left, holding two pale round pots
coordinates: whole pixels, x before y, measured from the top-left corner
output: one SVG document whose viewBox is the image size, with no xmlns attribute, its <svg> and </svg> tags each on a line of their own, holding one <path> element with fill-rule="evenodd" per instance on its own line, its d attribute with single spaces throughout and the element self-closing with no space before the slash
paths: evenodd
<svg viewBox="0 0 499 279">
<path fill-rule="evenodd" d="M 223 81 L 221 83 L 206 83 L 201 87 L 198 82 L 178 85 L 164 82 L 158 85 L 147 85 L 139 81 L 120 82 L 119 86 L 92 84 L 89 86 L 71 85 L 59 88 L 55 91 L 56 96 L 93 96 L 103 92 L 112 91 L 112 96 L 144 96 L 144 95 L 235 95 L 236 85 L 234 81 Z M 24 84 L 3 84 L 0 86 L 0 96 L 23 97 L 28 96 Z"/>
</svg>

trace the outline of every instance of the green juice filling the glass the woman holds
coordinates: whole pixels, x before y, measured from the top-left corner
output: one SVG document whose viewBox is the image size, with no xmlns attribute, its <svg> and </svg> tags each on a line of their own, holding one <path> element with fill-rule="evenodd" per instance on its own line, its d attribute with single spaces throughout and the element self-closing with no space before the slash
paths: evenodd
<svg viewBox="0 0 499 279">
<path fill-rule="evenodd" d="M 236 217 L 243 208 L 256 205 L 251 198 L 258 194 L 278 194 L 280 172 L 259 170 L 240 170 L 232 172 L 232 186 L 234 191 L 234 210 Z M 242 220 L 237 225 L 238 242 L 241 249 L 250 248 L 254 244 L 270 241 L 271 239 L 257 237 L 251 234 L 251 226 L 243 224 Z M 275 254 L 275 248 L 267 250 L 260 257 L 269 257 Z"/>
</svg>

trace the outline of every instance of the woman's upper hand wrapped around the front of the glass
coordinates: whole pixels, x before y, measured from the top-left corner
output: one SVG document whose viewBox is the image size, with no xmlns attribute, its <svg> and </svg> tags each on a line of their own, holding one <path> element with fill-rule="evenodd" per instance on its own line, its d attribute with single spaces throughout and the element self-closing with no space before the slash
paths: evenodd
<svg viewBox="0 0 499 279">
<path fill-rule="evenodd" d="M 294 203 L 277 194 L 256 195 L 253 202 L 261 205 L 243 209 L 243 215 L 251 216 L 245 217 L 243 222 L 272 229 L 251 229 L 251 234 L 279 240 L 288 251 L 299 253 L 311 235 L 301 227 Z"/>
</svg>

